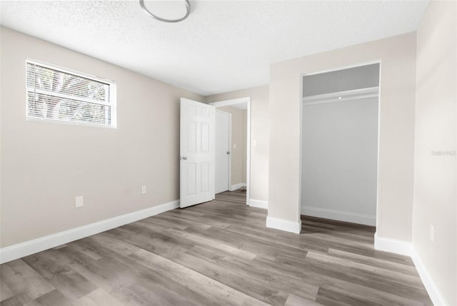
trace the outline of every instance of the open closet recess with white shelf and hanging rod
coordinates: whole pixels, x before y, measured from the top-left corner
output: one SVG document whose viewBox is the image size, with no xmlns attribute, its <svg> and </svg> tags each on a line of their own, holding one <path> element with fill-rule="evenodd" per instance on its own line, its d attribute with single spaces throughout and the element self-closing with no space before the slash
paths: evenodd
<svg viewBox="0 0 457 306">
<path fill-rule="evenodd" d="M 301 214 L 376 225 L 380 63 L 303 76 Z"/>
</svg>

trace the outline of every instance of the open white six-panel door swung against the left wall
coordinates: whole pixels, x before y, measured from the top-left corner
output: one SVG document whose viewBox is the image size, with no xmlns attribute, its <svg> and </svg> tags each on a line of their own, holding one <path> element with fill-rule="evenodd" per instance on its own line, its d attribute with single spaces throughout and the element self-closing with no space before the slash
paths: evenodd
<svg viewBox="0 0 457 306">
<path fill-rule="evenodd" d="M 180 207 L 214 199 L 214 106 L 181 98 Z"/>
</svg>

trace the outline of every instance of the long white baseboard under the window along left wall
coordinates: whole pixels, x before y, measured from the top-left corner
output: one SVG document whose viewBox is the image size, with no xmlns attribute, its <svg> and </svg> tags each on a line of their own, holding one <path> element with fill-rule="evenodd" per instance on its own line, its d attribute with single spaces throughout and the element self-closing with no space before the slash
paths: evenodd
<svg viewBox="0 0 457 306">
<path fill-rule="evenodd" d="M 138 210 L 134 213 L 119 215 L 114 218 L 109 218 L 96 223 L 80 226 L 79 228 L 72 228 L 71 230 L 65 230 L 61 233 L 47 235 L 41 238 L 26 241 L 24 243 L 18 243 L 17 245 L 1 248 L 0 263 L 16 260 L 27 255 L 47 250 L 49 248 L 54 248 L 58 245 L 64 245 L 65 243 L 70 243 L 74 240 L 85 238 L 90 235 L 95 235 L 97 233 L 104 232 L 105 230 L 118 228 L 119 226 L 148 218 L 153 215 L 158 215 L 159 213 L 164 213 L 174 208 L 179 208 L 179 200 L 174 200 L 169 203 Z"/>
</svg>

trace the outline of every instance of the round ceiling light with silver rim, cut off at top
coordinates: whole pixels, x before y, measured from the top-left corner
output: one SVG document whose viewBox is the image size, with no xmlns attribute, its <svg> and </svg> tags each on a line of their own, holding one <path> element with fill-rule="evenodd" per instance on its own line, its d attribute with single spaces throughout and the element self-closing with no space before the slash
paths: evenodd
<svg viewBox="0 0 457 306">
<path fill-rule="evenodd" d="M 191 13 L 189 0 L 139 1 L 146 14 L 163 22 L 183 21 Z"/>
</svg>

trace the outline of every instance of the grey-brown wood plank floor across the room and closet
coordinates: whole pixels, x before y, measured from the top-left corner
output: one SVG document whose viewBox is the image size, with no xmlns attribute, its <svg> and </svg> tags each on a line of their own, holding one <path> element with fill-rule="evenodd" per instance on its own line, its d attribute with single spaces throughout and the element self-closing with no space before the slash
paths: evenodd
<svg viewBox="0 0 457 306">
<path fill-rule="evenodd" d="M 432 305 L 374 228 L 302 216 L 265 228 L 245 193 L 171 210 L 0 266 L 0 305 Z"/>
</svg>

